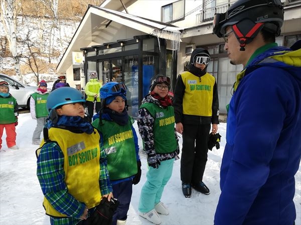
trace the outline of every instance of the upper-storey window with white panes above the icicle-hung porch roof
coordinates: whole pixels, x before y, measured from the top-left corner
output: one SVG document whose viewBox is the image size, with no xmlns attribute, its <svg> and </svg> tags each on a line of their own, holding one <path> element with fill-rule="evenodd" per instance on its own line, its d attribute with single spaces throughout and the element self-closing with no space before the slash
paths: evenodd
<svg viewBox="0 0 301 225">
<path fill-rule="evenodd" d="M 162 6 L 162 21 L 175 22 L 185 18 L 185 0 L 179 0 Z"/>
</svg>

